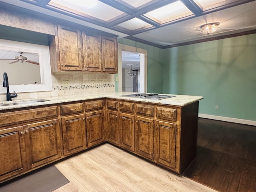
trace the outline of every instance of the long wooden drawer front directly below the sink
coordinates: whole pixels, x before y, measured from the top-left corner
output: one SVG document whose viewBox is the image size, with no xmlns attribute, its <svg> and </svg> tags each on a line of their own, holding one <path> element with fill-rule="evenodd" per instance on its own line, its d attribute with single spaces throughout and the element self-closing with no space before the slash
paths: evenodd
<svg viewBox="0 0 256 192">
<path fill-rule="evenodd" d="M 0 114 L 0 126 L 21 121 L 36 120 L 58 116 L 58 106 L 28 109 Z"/>
</svg>

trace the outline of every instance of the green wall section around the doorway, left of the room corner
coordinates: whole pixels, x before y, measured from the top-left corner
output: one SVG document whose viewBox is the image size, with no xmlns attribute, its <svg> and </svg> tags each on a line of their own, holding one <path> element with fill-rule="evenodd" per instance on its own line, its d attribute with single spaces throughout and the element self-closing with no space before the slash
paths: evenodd
<svg viewBox="0 0 256 192">
<path fill-rule="evenodd" d="M 147 67 L 147 92 L 161 93 L 162 92 L 162 70 L 164 65 L 163 50 L 125 38 L 118 39 L 118 43 L 134 46 L 145 49 L 148 52 L 148 67 Z"/>
</svg>

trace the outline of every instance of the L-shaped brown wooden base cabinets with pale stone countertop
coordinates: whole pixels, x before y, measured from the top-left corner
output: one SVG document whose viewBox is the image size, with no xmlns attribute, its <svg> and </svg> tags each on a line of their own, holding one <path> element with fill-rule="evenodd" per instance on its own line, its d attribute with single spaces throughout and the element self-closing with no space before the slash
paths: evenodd
<svg viewBox="0 0 256 192">
<path fill-rule="evenodd" d="M 126 94 L 0 102 L 0 182 L 104 142 L 181 175 L 196 156 L 203 97 L 152 100 Z"/>
</svg>

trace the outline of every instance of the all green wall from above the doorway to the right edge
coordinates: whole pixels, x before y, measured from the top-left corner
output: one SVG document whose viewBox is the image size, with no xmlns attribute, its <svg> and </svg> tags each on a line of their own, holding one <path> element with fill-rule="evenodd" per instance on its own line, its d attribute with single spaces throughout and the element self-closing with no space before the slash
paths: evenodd
<svg viewBox="0 0 256 192">
<path fill-rule="evenodd" d="M 148 50 L 148 92 L 203 96 L 201 114 L 256 120 L 256 34 L 169 49 L 118 42 Z"/>
</svg>

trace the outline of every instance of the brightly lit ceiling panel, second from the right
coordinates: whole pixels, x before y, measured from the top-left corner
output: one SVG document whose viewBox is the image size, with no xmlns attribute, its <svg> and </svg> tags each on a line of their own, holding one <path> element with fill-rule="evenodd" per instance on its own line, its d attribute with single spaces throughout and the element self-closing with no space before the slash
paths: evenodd
<svg viewBox="0 0 256 192">
<path fill-rule="evenodd" d="M 157 20 L 164 21 L 174 20 L 192 14 L 193 13 L 182 2 L 176 1 L 156 10 L 150 11 L 146 15 L 156 18 Z"/>
</svg>

